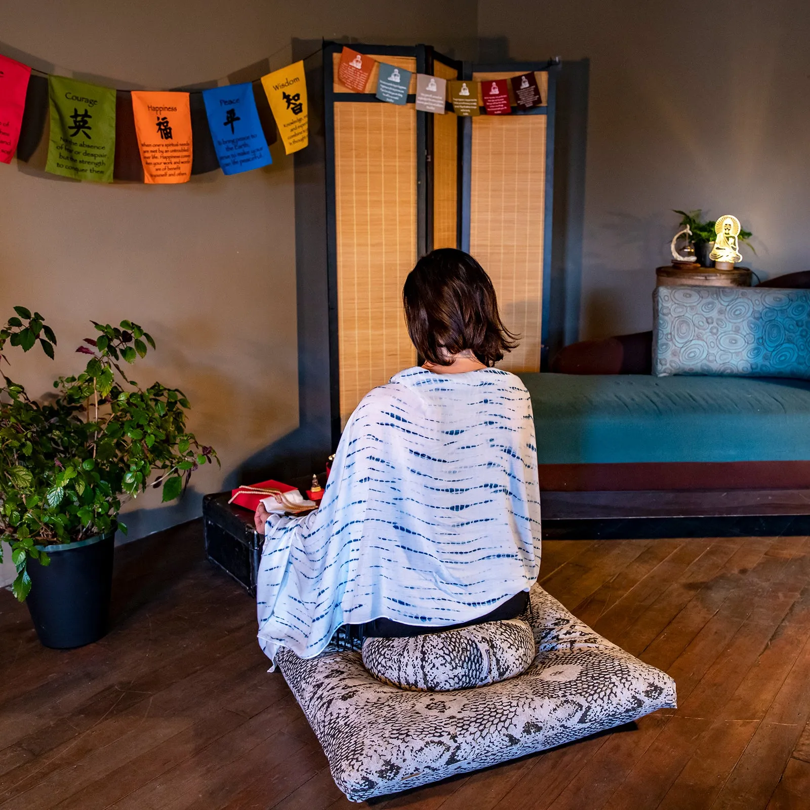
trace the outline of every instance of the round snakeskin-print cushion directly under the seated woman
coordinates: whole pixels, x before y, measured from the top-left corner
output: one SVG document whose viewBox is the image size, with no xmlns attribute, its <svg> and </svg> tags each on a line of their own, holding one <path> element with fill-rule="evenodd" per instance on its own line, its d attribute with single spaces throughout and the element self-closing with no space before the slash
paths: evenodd
<svg viewBox="0 0 810 810">
<path fill-rule="evenodd" d="M 528 669 L 535 652 L 531 627 L 509 619 L 411 638 L 366 638 L 363 663 L 386 684 L 449 692 L 514 678 Z"/>
</svg>

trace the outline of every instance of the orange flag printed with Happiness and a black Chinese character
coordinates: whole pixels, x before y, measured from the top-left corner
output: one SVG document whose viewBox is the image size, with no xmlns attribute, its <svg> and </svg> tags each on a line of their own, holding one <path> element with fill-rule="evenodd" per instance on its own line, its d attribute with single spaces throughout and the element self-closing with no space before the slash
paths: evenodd
<svg viewBox="0 0 810 810">
<path fill-rule="evenodd" d="M 191 177 L 189 94 L 132 91 L 132 112 L 145 183 L 187 183 Z"/>
</svg>

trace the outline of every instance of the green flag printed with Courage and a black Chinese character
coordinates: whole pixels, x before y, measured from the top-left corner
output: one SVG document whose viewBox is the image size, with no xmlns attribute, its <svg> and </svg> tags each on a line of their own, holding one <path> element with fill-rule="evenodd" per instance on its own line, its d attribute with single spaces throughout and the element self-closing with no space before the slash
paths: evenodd
<svg viewBox="0 0 810 810">
<path fill-rule="evenodd" d="M 115 91 L 63 76 L 48 77 L 50 143 L 45 171 L 113 182 Z"/>
</svg>

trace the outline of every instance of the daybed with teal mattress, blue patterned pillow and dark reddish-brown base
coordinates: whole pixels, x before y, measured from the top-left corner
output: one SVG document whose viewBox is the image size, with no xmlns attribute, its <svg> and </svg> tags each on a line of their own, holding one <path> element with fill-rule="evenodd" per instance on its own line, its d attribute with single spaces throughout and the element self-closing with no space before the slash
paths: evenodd
<svg viewBox="0 0 810 810">
<path fill-rule="evenodd" d="M 784 280 L 804 280 L 804 275 Z M 653 333 L 640 333 L 566 347 L 551 368 L 573 373 L 521 375 L 535 412 L 544 518 L 744 516 L 758 522 L 749 520 L 742 533 L 808 531 L 810 297 L 806 290 L 774 289 L 777 282 L 765 290 L 659 288 L 656 293 L 656 329 L 667 318 L 673 328 L 677 304 L 696 356 L 706 355 L 706 344 L 718 340 L 719 324 L 724 345 L 742 346 L 736 356 L 725 352 L 735 358 L 731 364 L 715 361 L 717 351 L 708 353 L 714 366 L 690 367 L 684 364 L 689 356 L 684 346 L 672 352 L 672 341 L 664 345 L 663 339 L 657 356 Z M 691 296 L 695 303 L 681 305 L 672 295 L 686 296 L 684 301 Z M 738 310 L 744 315 L 739 321 L 710 318 L 707 324 L 701 308 L 713 305 L 723 308 L 724 316 Z M 782 335 L 774 347 L 765 345 L 770 326 L 774 335 Z M 746 361 L 752 346 L 770 363 L 765 373 L 773 367 L 782 376 L 728 376 L 740 369 L 763 373 Z M 793 353 L 792 366 L 779 367 L 779 350 Z M 687 376 L 652 376 L 656 363 L 659 373 L 674 368 Z M 607 373 L 595 373 L 600 369 Z M 794 371 L 804 379 L 787 378 Z M 720 533 L 717 525 L 707 529 Z M 544 535 L 546 528 L 547 536 L 555 535 L 553 523 L 544 526 Z M 626 522 L 622 533 L 632 534 Z"/>
</svg>

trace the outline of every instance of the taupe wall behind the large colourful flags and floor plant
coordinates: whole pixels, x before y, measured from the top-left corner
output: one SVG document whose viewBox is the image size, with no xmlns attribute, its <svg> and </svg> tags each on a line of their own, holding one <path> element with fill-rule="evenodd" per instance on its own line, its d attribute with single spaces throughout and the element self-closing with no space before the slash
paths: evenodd
<svg viewBox="0 0 810 810">
<path fill-rule="evenodd" d="M 291 40 L 474 47 L 475 4 L 340 2 L 0 2 L 0 53 L 117 87 L 163 89 L 232 74 Z M 62 181 L 0 165 L 0 316 L 38 309 L 59 338 L 57 361 L 12 356 L 32 393 L 82 365 L 88 320 L 130 318 L 154 335 L 134 377 L 180 386 L 191 428 L 220 453 L 181 505 L 138 499 L 130 537 L 199 514 L 199 497 L 234 484 L 241 464 L 296 428 L 295 221 L 292 159 L 187 185 Z M 326 272 L 326 268 L 324 268 Z M 132 509 L 133 507 L 130 507 Z"/>
</svg>

